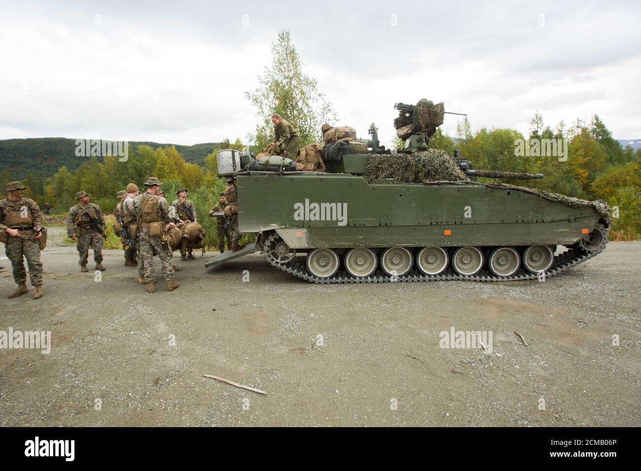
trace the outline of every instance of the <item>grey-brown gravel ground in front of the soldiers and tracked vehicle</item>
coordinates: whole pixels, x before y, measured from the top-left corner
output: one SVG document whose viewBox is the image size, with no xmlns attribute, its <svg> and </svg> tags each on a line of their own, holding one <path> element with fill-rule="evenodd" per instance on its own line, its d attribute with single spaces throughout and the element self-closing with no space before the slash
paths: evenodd
<svg viewBox="0 0 641 471">
<path fill-rule="evenodd" d="M 122 252 L 97 282 L 52 240 L 44 297 L 0 299 L 0 330 L 53 338 L 0 350 L 0 426 L 641 425 L 640 242 L 545 283 L 318 286 L 258 254 L 178 257 L 180 288 L 149 294 Z M 440 348 L 452 327 L 492 353 Z"/>
</svg>

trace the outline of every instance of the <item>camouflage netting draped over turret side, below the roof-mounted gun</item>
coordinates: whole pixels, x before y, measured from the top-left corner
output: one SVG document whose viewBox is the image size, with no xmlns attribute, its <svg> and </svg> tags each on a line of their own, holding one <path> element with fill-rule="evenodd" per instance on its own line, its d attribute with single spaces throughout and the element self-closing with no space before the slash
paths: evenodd
<svg viewBox="0 0 641 471">
<path fill-rule="evenodd" d="M 456 161 L 438 149 L 426 149 L 409 155 L 370 155 L 367 159 L 367 176 L 374 179 L 393 178 L 396 183 L 469 180 Z"/>
</svg>

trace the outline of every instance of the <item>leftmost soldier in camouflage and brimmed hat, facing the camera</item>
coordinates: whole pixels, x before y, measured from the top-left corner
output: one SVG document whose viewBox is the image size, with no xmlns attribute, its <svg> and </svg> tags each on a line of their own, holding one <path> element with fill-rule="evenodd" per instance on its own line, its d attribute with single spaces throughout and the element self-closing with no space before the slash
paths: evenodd
<svg viewBox="0 0 641 471">
<path fill-rule="evenodd" d="M 26 186 L 19 181 L 7 183 L 4 191 L 8 197 L 0 201 L 0 231 L 6 236 L 4 249 L 11 260 L 13 280 L 18 285 L 17 290 L 7 297 L 18 297 L 29 292 L 27 274 L 22 258 L 27 259 L 29 278 L 35 287 L 33 299 L 42 297 L 42 263 L 40 263 L 40 243 L 42 237 L 42 216 L 40 208 L 33 199 L 23 198 L 22 192 Z"/>
</svg>

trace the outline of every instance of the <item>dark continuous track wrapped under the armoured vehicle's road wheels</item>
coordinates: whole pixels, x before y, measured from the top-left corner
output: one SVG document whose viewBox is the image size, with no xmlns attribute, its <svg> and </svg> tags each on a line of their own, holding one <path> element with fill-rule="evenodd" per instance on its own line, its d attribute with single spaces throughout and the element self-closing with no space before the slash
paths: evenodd
<svg viewBox="0 0 641 471">
<path fill-rule="evenodd" d="M 275 237 L 276 235 L 271 235 L 269 239 Z M 565 270 L 579 265 L 579 263 L 590 260 L 590 258 L 604 251 L 607 242 L 608 240 L 606 238 L 603 245 L 594 252 L 588 252 L 580 245 L 572 246 L 569 251 L 563 252 L 562 254 L 554 257 L 552 266 L 545 271 L 545 278 L 557 276 Z M 319 278 L 310 274 L 305 265 L 295 263 L 294 261 L 290 261 L 289 263 L 279 263 L 270 256 L 269 252 L 265 251 L 264 253 L 265 258 L 267 258 L 267 261 L 269 261 L 273 267 L 304 279 L 305 281 L 310 281 L 311 283 L 317 283 L 320 285 L 334 285 L 338 283 L 409 283 L 411 281 L 521 281 L 538 279 L 538 274 L 530 273 L 522 267 L 520 267 L 512 276 L 494 276 L 489 270 L 481 270 L 481 272 L 472 276 L 463 276 L 454 272 L 454 269 L 449 267 L 440 275 L 424 275 L 419 270 L 410 270 L 408 274 L 404 276 L 395 276 L 394 279 L 392 279 L 392 276 L 388 276 L 382 271 L 376 271 L 374 276 L 367 277 L 355 277 L 351 276 L 347 272 L 338 271 L 334 276 Z"/>
</svg>

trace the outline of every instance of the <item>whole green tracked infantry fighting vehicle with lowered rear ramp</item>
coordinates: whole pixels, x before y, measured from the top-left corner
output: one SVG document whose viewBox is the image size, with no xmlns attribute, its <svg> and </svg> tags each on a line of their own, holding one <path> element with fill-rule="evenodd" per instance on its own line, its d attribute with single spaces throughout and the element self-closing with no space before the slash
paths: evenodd
<svg viewBox="0 0 641 471">
<path fill-rule="evenodd" d="M 398 124 L 412 111 L 401 108 Z M 403 151 L 344 154 L 326 161 L 326 172 L 248 171 L 251 155 L 219 151 L 221 176 L 237 178 L 240 232 L 256 242 L 206 266 L 260 250 L 276 269 L 313 283 L 508 281 L 555 276 L 603 251 L 604 202 L 479 183 L 542 176 L 472 170 L 449 156 L 454 178 L 439 179 L 429 167 L 444 161 L 431 158 L 429 126 L 418 128 Z"/>
</svg>

